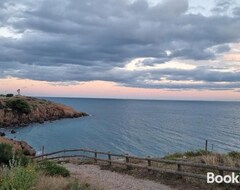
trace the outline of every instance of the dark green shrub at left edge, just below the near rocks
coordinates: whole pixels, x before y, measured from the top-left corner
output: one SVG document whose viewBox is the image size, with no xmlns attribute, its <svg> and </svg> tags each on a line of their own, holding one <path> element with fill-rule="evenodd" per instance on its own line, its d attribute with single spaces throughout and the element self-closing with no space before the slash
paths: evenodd
<svg viewBox="0 0 240 190">
<path fill-rule="evenodd" d="M 8 164 L 13 158 L 12 146 L 5 143 L 0 143 L 0 164 Z"/>
</svg>

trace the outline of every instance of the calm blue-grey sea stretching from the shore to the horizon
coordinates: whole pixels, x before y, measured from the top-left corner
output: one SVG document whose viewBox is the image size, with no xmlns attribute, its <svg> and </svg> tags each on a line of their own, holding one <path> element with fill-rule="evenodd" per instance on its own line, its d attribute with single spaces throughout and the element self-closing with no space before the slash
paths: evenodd
<svg viewBox="0 0 240 190">
<path fill-rule="evenodd" d="M 46 98 L 91 116 L 17 128 L 36 150 L 89 148 L 138 156 L 176 151 L 240 150 L 240 103 Z"/>
</svg>

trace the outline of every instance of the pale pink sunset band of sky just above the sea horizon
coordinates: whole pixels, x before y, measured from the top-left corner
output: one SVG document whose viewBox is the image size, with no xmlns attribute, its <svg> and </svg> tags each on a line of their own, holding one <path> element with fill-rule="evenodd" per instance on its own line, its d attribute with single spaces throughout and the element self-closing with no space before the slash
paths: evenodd
<svg viewBox="0 0 240 190">
<path fill-rule="evenodd" d="M 112 82 L 94 81 L 62 85 L 24 79 L 1 79 L 1 93 L 15 93 L 42 97 L 89 97 L 162 100 L 240 100 L 240 92 L 211 90 L 161 90 L 118 86 Z"/>
</svg>

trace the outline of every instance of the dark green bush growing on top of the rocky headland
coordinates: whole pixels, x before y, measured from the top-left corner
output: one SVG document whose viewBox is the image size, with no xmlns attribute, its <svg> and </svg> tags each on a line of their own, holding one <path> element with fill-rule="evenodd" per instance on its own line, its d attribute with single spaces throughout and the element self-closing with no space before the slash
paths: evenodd
<svg viewBox="0 0 240 190">
<path fill-rule="evenodd" d="M 7 101 L 6 106 L 12 108 L 13 110 L 17 111 L 18 113 L 25 113 L 29 114 L 31 112 L 31 108 L 29 104 L 24 100 L 11 100 Z"/>
</svg>

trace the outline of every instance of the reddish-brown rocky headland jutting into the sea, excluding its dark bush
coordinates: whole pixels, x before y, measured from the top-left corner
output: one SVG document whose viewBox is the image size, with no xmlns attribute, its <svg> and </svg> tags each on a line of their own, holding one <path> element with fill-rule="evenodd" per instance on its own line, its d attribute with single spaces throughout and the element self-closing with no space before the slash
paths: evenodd
<svg viewBox="0 0 240 190">
<path fill-rule="evenodd" d="M 20 113 L 7 107 L 8 101 L 22 100 L 29 105 L 30 111 Z M 78 118 L 88 114 L 75 111 L 69 106 L 53 103 L 44 99 L 32 97 L 15 96 L 11 98 L 1 98 L 0 103 L 0 127 L 26 126 L 30 123 L 44 123 L 63 118 Z"/>
</svg>

